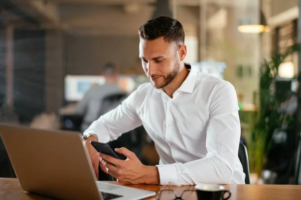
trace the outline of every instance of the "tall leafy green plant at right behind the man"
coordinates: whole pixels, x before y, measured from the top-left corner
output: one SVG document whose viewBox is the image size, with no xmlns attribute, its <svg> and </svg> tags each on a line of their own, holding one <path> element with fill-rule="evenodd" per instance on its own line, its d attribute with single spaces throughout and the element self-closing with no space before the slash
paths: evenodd
<svg viewBox="0 0 301 200">
<path fill-rule="evenodd" d="M 294 44 L 284 53 L 273 52 L 270 59 L 264 59 L 260 65 L 259 109 L 246 117 L 248 124 L 246 143 L 248 146 L 250 171 L 261 176 L 266 155 L 271 145 L 271 136 L 280 128 L 279 102 L 275 96 L 275 82 L 279 65 L 293 52 L 299 51 L 300 45 Z"/>
</svg>

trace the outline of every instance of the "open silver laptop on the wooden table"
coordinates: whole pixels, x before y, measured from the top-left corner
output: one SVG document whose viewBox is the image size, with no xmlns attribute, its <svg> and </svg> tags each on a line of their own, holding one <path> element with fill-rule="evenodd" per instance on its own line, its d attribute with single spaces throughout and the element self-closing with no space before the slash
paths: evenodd
<svg viewBox="0 0 301 200">
<path fill-rule="evenodd" d="M 57 199 L 142 199 L 154 191 L 97 181 L 81 134 L 0 124 L 24 191 Z"/>
</svg>

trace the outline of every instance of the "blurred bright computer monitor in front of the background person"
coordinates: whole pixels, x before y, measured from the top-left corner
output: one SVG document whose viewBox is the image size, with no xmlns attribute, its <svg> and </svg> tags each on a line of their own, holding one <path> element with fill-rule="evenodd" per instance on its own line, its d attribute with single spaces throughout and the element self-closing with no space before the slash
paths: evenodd
<svg viewBox="0 0 301 200">
<path fill-rule="evenodd" d="M 80 101 L 93 84 L 102 85 L 104 83 L 105 77 L 101 75 L 66 75 L 65 100 Z"/>
</svg>

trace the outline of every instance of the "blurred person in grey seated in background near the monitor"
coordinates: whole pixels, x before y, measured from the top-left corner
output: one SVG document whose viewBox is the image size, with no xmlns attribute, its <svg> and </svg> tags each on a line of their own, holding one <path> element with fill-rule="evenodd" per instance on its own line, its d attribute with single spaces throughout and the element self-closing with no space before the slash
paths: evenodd
<svg viewBox="0 0 301 200">
<path fill-rule="evenodd" d="M 103 98 L 112 94 L 125 94 L 125 91 L 117 85 L 118 72 L 113 63 L 106 63 L 101 75 L 105 77 L 105 84 L 91 86 L 75 107 L 75 113 L 84 115 L 82 131 L 87 129 L 99 117 L 100 110 L 103 108 Z"/>
</svg>

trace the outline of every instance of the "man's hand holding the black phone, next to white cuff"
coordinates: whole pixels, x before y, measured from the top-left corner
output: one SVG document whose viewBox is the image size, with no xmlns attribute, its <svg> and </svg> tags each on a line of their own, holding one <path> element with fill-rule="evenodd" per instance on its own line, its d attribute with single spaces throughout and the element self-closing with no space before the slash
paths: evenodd
<svg viewBox="0 0 301 200">
<path fill-rule="evenodd" d="M 115 148 L 117 153 L 127 157 L 126 160 L 116 159 L 104 153 L 98 153 L 100 161 L 107 172 L 122 184 L 159 184 L 160 177 L 157 166 L 143 165 L 135 153 L 125 147 Z"/>
</svg>

